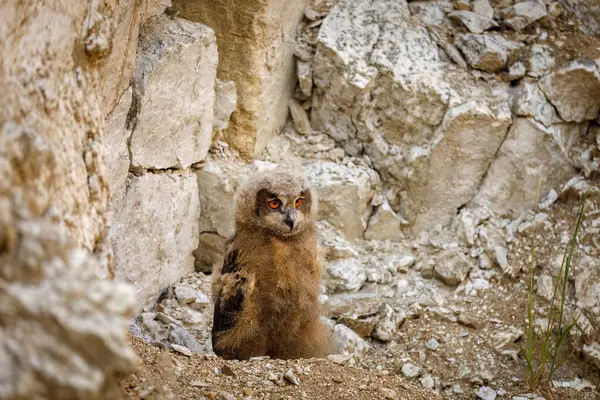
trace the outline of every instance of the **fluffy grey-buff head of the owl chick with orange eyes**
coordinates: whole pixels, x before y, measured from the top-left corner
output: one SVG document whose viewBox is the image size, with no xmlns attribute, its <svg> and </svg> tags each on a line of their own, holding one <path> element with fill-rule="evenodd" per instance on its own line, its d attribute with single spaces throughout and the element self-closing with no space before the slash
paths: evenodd
<svg viewBox="0 0 600 400">
<path fill-rule="evenodd" d="M 256 174 L 238 191 L 236 225 L 294 236 L 312 224 L 315 203 L 303 176 L 277 170 Z"/>
</svg>

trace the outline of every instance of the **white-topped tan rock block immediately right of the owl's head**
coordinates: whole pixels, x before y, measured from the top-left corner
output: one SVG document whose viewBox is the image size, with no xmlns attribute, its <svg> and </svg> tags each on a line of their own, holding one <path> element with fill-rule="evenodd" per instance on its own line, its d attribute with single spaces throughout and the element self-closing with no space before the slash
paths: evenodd
<svg viewBox="0 0 600 400">
<path fill-rule="evenodd" d="M 319 199 L 318 218 L 327 220 L 347 239 L 362 238 L 371 214 L 377 174 L 366 168 L 349 168 L 314 161 L 303 166 Z"/>
</svg>

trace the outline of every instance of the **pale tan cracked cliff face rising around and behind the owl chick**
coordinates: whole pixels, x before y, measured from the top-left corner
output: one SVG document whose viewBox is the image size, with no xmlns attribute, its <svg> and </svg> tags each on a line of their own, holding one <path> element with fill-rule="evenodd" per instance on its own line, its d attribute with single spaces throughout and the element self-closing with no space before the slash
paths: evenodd
<svg viewBox="0 0 600 400">
<path fill-rule="evenodd" d="M 516 276 L 507 243 L 543 225 L 529 210 L 598 170 L 594 1 L 306 5 L 0 6 L 0 397 L 107 396 L 133 366 L 128 319 L 221 262 L 253 171 L 309 176 L 324 293 L 396 296 L 410 268 L 437 299 Z M 572 305 L 594 337 L 586 255 Z M 394 310 L 375 309 L 354 328 L 389 340 Z"/>
</svg>

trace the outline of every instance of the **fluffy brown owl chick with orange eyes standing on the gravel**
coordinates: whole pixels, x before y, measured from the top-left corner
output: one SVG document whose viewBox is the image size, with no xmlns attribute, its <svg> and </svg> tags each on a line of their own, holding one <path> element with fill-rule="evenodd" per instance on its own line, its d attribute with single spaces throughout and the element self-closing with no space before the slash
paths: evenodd
<svg viewBox="0 0 600 400">
<path fill-rule="evenodd" d="M 327 355 L 331 334 L 319 316 L 315 207 L 307 180 L 289 173 L 258 174 L 239 190 L 236 231 L 213 278 L 218 356 Z"/>
</svg>

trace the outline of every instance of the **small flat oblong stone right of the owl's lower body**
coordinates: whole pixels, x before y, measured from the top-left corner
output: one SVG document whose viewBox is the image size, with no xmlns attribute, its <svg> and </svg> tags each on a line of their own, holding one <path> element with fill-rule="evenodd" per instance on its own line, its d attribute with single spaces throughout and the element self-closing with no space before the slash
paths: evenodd
<svg viewBox="0 0 600 400">
<path fill-rule="evenodd" d="M 327 299 L 325 315 L 329 318 L 366 317 L 377 313 L 379 302 L 380 297 L 376 293 L 340 293 Z"/>
</svg>

